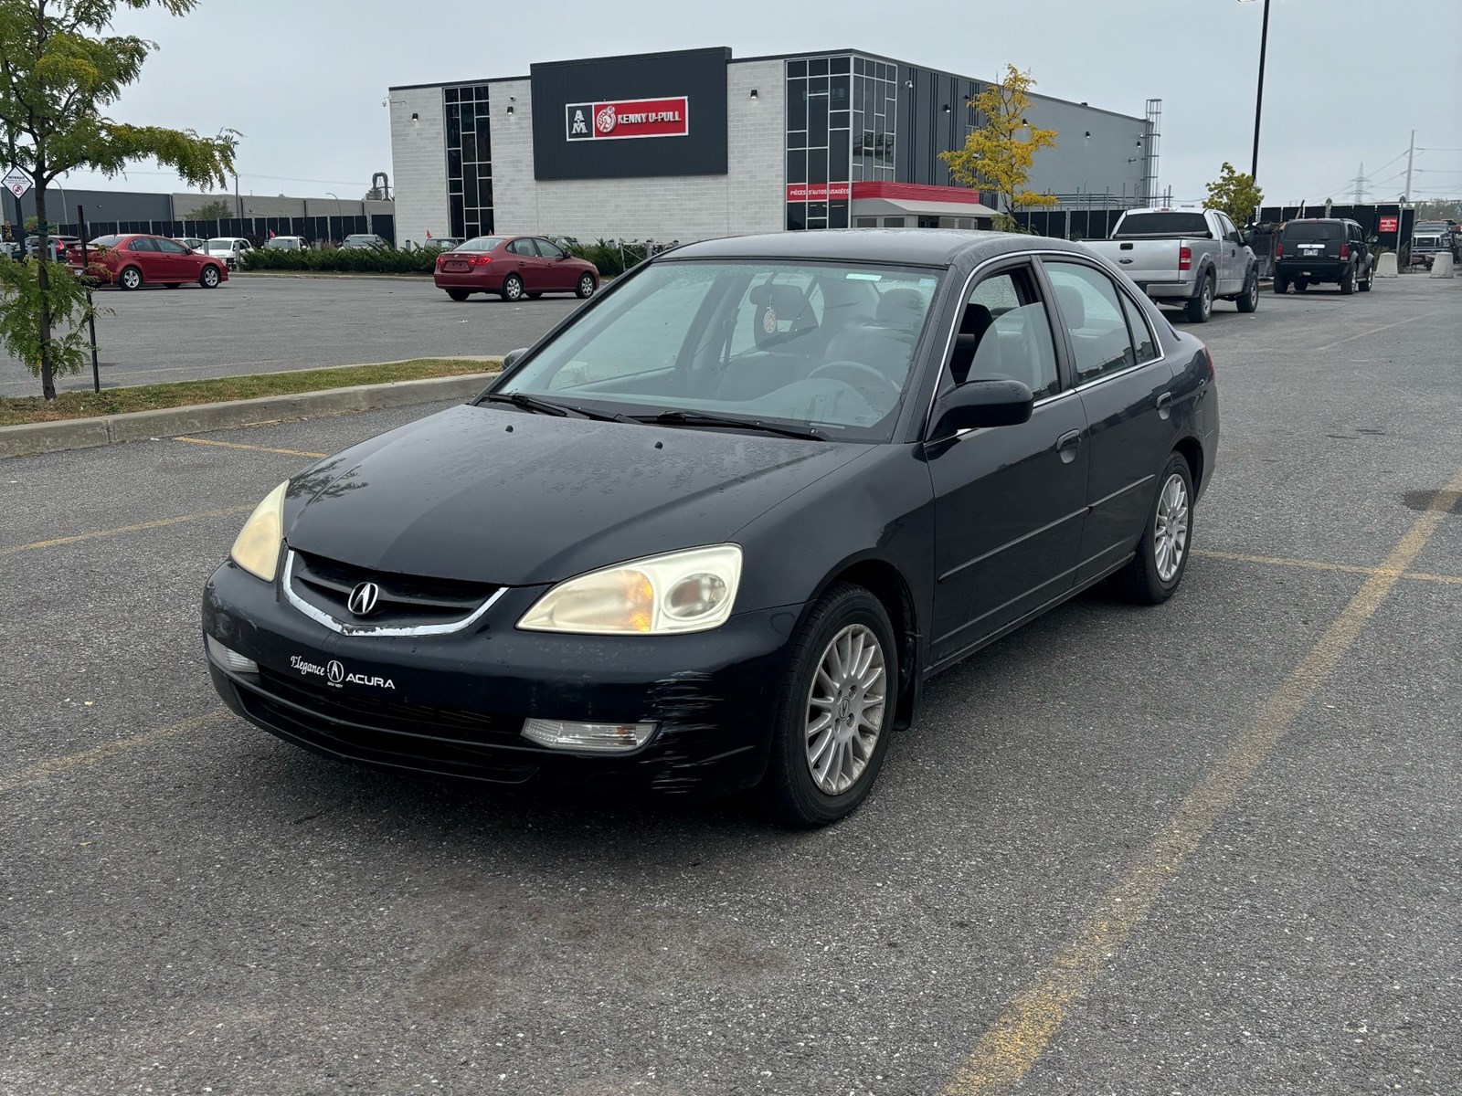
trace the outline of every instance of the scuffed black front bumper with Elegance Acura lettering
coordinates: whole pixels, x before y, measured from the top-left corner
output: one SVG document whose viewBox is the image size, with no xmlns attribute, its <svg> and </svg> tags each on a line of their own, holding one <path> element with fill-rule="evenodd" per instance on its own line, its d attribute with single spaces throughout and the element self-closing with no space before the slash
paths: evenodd
<svg viewBox="0 0 1462 1096">
<path fill-rule="evenodd" d="M 689 636 L 518 631 L 545 589 L 509 589 L 461 633 L 342 636 L 288 605 L 278 583 L 225 563 L 203 593 L 203 631 L 260 672 L 212 659 L 209 669 L 224 703 L 249 722 L 376 767 L 697 798 L 760 780 L 800 606 L 738 614 Z M 338 684 L 325 671 L 332 662 L 344 671 Z M 528 718 L 658 731 L 633 753 L 580 754 L 523 738 Z"/>
</svg>

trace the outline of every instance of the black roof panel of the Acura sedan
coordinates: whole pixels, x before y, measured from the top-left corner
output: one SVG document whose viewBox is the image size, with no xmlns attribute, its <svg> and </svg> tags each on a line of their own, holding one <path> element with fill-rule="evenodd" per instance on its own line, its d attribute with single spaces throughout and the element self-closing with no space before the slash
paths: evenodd
<svg viewBox="0 0 1462 1096">
<path fill-rule="evenodd" d="M 953 266 L 963 257 L 988 259 L 1007 251 L 1072 251 L 1079 244 L 1039 235 L 956 228 L 833 228 L 816 232 L 768 232 L 686 244 L 667 259 L 830 259 L 911 266 Z"/>
</svg>

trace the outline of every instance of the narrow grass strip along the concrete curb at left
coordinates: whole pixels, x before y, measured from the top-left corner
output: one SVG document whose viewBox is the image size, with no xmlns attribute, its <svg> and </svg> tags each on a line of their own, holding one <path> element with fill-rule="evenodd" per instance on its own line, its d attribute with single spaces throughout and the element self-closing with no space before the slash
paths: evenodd
<svg viewBox="0 0 1462 1096">
<path fill-rule="evenodd" d="M 494 359 L 412 358 L 379 365 L 336 365 L 325 370 L 291 373 L 254 373 L 244 377 L 180 380 L 170 384 L 136 384 L 101 392 L 61 392 L 47 403 L 39 396 L 0 396 L 0 427 L 23 422 L 61 422 L 72 418 L 124 415 L 129 411 L 186 408 L 196 403 L 222 403 L 231 399 L 288 396 L 298 392 L 345 389 L 354 384 L 387 384 L 398 380 L 461 377 L 490 373 L 501 367 Z"/>
</svg>

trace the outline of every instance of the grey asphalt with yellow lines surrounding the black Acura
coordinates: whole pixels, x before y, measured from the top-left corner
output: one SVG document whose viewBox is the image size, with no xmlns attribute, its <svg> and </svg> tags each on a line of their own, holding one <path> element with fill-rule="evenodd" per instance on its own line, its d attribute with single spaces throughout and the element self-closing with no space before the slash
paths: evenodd
<svg viewBox="0 0 1462 1096">
<path fill-rule="evenodd" d="M 0 1092 L 1462 1090 L 1462 281 L 1377 286 L 1194 329 L 1180 595 L 937 678 L 817 833 L 222 710 L 199 592 L 249 510 L 433 408 L 0 462 Z"/>
</svg>

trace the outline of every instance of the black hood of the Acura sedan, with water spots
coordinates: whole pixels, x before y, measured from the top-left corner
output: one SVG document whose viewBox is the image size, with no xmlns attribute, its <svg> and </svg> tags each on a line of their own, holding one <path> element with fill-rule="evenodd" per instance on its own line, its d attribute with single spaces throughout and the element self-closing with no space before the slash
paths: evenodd
<svg viewBox="0 0 1462 1096">
<path fill-rule="evenodd" d="M 468 405 L 294 476 L 285 539 L 385 573 L 551 583 L 731 541 L 870 449 Z"/>
</svg>

